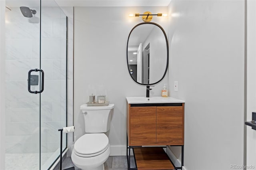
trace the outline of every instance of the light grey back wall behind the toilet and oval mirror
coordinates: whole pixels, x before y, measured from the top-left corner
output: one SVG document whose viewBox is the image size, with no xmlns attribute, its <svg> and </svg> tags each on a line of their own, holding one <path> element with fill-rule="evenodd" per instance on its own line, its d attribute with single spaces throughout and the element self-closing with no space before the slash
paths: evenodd
<svg viewBox="0 0 256 170">
<path fill-rule="evenodd" d="M 84 134 L 80 105 L 89 95 L 105 94 L 115 104 L 109 140 L 111 155 L 126 154 L 126 96 L 146 96 L 146 87 L 135 83 L 126 64 L 126 43 L 139 18 L 129 13 L 167 12 L 167 7 L 75 7 L 74 14 L 74 132 L 75 140 Z M 168 30 L 168 19 L 152 22 Z M 151 96 L 160 96 L 168 76 L 152 87 Z M 153 94 L 154 93 L 154 94 Z"/>
</svg>

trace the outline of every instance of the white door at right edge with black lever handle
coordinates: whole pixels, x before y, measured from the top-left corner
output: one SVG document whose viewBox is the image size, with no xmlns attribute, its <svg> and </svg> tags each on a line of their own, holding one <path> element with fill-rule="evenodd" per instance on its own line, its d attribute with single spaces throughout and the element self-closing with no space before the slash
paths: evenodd
<svg viewBox="0 0 256 170">
<path fill-rule="evenodd" d="M 256 111 L 256 1 L 247 1 L 247 121 Z M 256 167 L 256 131 L 247 126 L 246 165 Z"/>
</svg>

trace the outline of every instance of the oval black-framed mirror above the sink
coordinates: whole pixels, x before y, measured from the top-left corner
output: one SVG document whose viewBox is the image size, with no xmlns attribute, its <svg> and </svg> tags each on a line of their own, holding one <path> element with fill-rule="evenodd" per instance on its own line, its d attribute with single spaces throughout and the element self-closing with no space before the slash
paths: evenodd
<svg viewBox="0 0 256 170">
<path fill-rule="evenodd" d="M 164 29 L 153 22 L 132 28 L 127 41 L 127 66 L 132 79 L 141 85 L 160 82 L 168 68 L 168 41 Z"/>
</svg>

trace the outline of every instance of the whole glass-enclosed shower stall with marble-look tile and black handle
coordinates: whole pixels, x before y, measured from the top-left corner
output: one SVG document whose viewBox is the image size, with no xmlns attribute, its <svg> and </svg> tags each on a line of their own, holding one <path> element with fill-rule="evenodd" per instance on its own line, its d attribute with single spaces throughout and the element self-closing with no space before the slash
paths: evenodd
<svg viewBox="0 0 256 170">
<path fill-rule="evenodd" d="M 6 6 L 5 169 L 47 170 L 67 126 L 67 17 L 54 0 Z"/>
</svg>

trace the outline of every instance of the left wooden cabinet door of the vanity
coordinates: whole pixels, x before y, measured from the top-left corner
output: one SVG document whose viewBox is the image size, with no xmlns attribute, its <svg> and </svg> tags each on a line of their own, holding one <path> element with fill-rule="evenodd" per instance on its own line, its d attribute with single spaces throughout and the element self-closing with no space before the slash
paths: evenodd
<svg viewBox="0 0 256 170">
<path fill-rule="evenodd" d="M 156 144 L 156 107 L 130 108 L 130 144 Z"/>
</svg>

